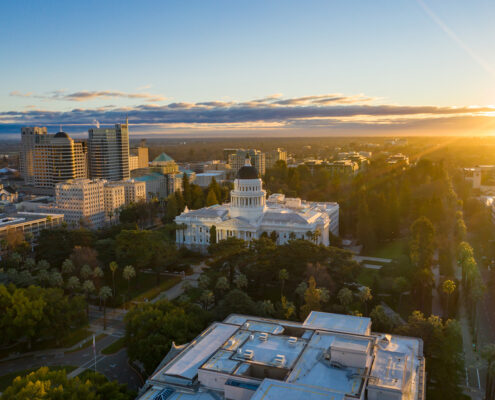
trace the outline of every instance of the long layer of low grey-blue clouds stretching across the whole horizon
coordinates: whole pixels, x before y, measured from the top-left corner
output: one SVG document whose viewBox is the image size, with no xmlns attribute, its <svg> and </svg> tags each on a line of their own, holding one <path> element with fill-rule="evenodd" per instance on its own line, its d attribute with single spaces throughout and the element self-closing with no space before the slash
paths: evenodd
<svg viewBox="0 0 495 400">
<path fill-rule="evenodd" d="M 73 99 L 120 97 L 122 92 L 61 92 L 59 96 Z M 129 93 L 124 94 L 129 97 Z M 281 98 L 272 95 L 250 101 L 202 101 L 197 103 L 173 102 L 166 105 L 146 102 L 137 106 L 105 106 L 74 108 L 70 111 L 23 109 L 0 112 L 1 124 L 14 125 L 91 125 L 98 120 L 102 125 L 123 121 L 129 115 L 136 129 L 162 130 L 256 130 L 302 129 L 313 131 L 352 131 L 426 129 L 468 130 L 483 124 L 484 129 L 495 127 L 493 106 L 401 106 L 376 104 L 375 99 L 363 94 L 311 95 Z M 73 100 L 81 101 L 81 100 Z M 148 128 L 145 128 L 148 127 Z"/>
</svg>

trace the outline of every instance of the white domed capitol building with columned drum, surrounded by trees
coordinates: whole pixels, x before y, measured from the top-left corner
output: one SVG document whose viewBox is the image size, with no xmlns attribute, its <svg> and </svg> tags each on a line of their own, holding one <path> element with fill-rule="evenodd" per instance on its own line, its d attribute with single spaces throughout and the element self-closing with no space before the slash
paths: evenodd
<svg viewBox="0 0 495 400">
<path fill-rule="evenodd" d="M 330 244 L 329 232 L 339 234 L 339 205 L 333 202 L 308 202 L 272 194 L 267 198 L 258 171 L 249 158 L 239 169 L 230 192 L 230 203 L 186 209 L 175 218 L 182 226 L 176 231 L 179 246 L 202 248 L 210 244 L 210 229 L 216 240 L 236 237 L 246 241 L 262 235 L 274 236 L 277 244 L 290 239 L 308 239 Z"/>
</svg>

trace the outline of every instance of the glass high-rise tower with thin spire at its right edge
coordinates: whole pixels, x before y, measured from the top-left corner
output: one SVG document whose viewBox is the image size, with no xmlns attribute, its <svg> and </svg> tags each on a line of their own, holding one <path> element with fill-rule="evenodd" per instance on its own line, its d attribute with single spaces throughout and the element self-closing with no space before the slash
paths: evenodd
<svg viewBox="0 0 495 400">
<path fill-rule="evenodd" d="M 120 181 L 129 179 L 129 129 L 125 124 L 115 128 L 89 130 L 88 151 L 92 178 Z"/>
</svg>

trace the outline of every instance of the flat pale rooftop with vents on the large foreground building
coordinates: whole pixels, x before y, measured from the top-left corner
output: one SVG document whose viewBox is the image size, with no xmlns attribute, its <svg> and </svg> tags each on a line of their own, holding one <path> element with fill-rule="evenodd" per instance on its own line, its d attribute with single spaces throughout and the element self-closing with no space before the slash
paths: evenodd
<svg viewBox="0 0 495 400">
<path fill-rule="evenodd" d="M 419 400 L 422 352 L 420 339 L 371 333 L 365 317 L 312 312 L 298 323 L 234 314 L 167 356 L 140 400 L 360 399 L 365 389 Z"/>
</svg>

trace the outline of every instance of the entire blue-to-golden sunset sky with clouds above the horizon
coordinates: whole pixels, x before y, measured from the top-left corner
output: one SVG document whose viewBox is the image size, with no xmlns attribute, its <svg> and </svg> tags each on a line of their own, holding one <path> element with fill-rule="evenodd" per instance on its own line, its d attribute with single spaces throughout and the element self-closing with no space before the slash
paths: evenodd
<svg viewBox="0 0 495 400">
<path fill-rule="evenodd" d="M 493 0 L 3 1 L 0 133 L 492 135 Z"/>
</svg>

